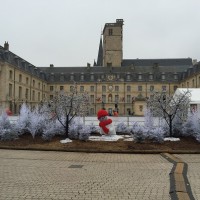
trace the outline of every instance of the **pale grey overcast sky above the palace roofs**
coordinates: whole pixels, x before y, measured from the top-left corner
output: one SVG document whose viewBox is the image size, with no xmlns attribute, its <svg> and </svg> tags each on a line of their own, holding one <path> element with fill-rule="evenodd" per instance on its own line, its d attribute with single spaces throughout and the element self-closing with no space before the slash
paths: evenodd
<svg viewBox="0 0 200 200">
<path fill-rule="evenodd" d="M 200 0 L 0 0 L 0 45 L 35 66 L 86 66 L 105 23 L 124 19 L 123 58 L 200 61 Z"/>
</svg>

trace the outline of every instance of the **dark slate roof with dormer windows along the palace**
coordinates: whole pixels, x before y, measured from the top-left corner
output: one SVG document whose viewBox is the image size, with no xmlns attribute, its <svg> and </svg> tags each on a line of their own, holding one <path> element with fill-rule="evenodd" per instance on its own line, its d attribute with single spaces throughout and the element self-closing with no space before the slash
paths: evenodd
<svg viewBox="0 0 200 200">
<path fill-rule="evenodd" d="M 122 67 L 36 67 L 2 46 L 0 46 L 0 60 L 11 63 L 49 83 L 72 82 L 72 77 L 77 82 L 106 82 L 109 74 L 114 76 L 113 81 L 116 82 L 178 82 L 200 69 L 193 67 L 191 58 L 124 59 Z"/>
</svg>

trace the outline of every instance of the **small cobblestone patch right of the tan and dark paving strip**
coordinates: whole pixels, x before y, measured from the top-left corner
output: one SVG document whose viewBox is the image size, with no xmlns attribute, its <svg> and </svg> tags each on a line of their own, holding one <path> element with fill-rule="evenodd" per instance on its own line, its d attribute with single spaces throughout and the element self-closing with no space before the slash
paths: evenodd
<svg viewBox="0 0 200 200">
<path fill-rule="evenodd" d="M 192 194 L 196 200 L 200 200 L 200 154 L 174 154 L 188 165 L 187 178 Z"/>
</svg>

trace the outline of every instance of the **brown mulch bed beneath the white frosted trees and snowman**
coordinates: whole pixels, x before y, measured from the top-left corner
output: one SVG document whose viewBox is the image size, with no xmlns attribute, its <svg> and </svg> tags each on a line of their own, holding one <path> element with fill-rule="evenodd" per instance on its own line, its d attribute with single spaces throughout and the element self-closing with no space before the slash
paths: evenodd
<svg viewBox="0 0 200 200">
<path fill-rule="evenodd" d="M 13 141 L 0 141 L 0 148 L 6 149 L 34 149 L 34 150 L 60 150 L 60 151 L 86 151 L 86 152 L 124 152 L 124 153 L 159 153 L 159 152 L 188 152 L 200 153 L 200 143 L 193 138 L 180 138 L 180 141 L 166 141 L 161 144 L 144 141 L 135 143 L 131 141 L 118 140 L 106 141 L 80 141 L 73 140 L 71 143 L 62 144 L 61 136 L 54 137 L 51 141 L 44 141 L 36 136 L 34 139 L 30 134 L 24 134 Z"/>
</svg>

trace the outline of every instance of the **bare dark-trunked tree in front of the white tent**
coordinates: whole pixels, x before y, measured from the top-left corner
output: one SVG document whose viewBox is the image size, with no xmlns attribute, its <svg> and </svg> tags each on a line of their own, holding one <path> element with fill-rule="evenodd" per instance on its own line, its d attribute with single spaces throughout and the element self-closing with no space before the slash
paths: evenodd
<svg viewBox="0 0 200 200">
<path fill-rule="evenodd" d="M 169 127 L 170 137 L 173 136 L 173 120 L 179 118 L 185 120 L 190 102 L 190 91 L 175 93 L 173 96 L 166 92 L 153 92 L 147 100 L 147 107 L 150 108 L 153 116 L 164 119 Z"/>
</svg>

